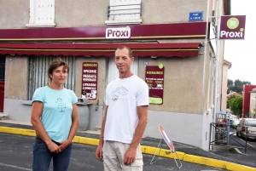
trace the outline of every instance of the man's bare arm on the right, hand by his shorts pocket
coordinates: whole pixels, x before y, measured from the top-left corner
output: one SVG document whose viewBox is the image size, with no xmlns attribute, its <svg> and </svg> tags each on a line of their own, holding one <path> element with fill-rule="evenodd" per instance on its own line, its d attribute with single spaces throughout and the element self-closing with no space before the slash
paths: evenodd
<svg viewBox="0 0 256 171">
<path fill-rule="evenodd" d="M 131 164 L 136 160 L 137 145 L 143 138 L 145 128 L 148 123 L 148 105 L 137 106 L 138 123 L 135 134 L 131 141 L 129 149 L 125 153 L 125 164 Z"/>
</svg>

